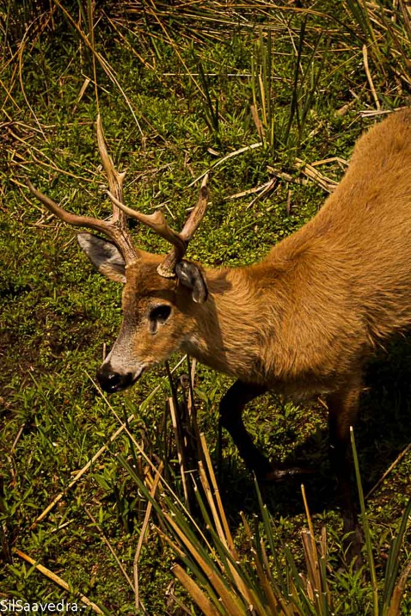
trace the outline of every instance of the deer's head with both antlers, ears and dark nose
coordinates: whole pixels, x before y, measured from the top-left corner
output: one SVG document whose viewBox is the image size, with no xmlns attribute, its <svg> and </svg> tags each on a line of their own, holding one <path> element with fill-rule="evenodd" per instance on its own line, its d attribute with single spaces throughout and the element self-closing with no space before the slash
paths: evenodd
<svg viewBox="0 0 411 616">
<path fill-rule="evenodd" d="M 184 255 L 206 213 L 207 176 L 201 184 L 197 205 L 182 231 L 177 233 L 169 227 L 162 211 L 147 215 L 124 205 L 125 172 L 117 172 L 108 155 L 100 117 L 97 118 L 97 140 L 112 201 L 112 216 L 108 220 L 71 214 L 38 192 L 31 182 L 27 185 L 32 194 L 64 222 L 93 229 L 108 238 L 90 233 L 77 235 L 79 245 L 97 270 L 125 285 L 119 337 L 97 370 L 101 387 L 106 392 L 117 392 L 132 385 L 147 368 L 166 360 L 193 334 L 190 323 L 195 305 L 207 300 L 208 291 L 201 266 L 187 261 Z M 162 257 L 134 246 L 127 231 L 126 216 L 145 224 L 170 242 L 171 251 Z"/>
</svg>

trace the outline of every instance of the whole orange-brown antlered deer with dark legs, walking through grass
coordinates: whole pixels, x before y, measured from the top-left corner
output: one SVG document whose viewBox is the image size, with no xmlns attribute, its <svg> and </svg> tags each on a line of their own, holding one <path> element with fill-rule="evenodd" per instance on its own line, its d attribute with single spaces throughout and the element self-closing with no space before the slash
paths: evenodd
<svg viewBox="0 0 411 616">
<path fill-rule="evenodd" d="M 112 201 L 109 220 L 71 214 L 31 182 L 28 188 L 64 222 L 103 235 L 77 238 L 97 270 L 124 285 L 119 336 L 97 371 L 101 388 L 126 389 L 178 350 L 234 377 L 219 424 L 262 480 L 276 478 L 276 465 L 247 432 L 245 405 L 268 391 L 325 396 L 343 528 L 358 554 L 350 426 L 366 361 L 411 324 L 411 109 L 390 114 L 358 139 L 343 179 L 314 218 L 262 261 L 238 268 L 185 258 L 206 214 L 207 176 L 178 233 L 162 211 L 142 214 L 125 205 L 125 173 L 108 155 L 101 118 L 97 140 Z M 135 246 L 127 217 L 169 242 L 169 253 Z"/>
</svg>

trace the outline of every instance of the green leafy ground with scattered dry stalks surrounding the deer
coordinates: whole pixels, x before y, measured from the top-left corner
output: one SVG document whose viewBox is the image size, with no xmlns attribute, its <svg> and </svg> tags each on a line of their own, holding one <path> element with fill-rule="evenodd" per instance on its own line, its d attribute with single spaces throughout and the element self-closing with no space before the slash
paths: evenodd
<svg viewBox="0 0 411 616">
<path fill-rule="evenodd" d="M 353 19 L 351 3 L 312 3 L 308 13 L 294 3 L 279 4 L 282 10 L 217 2 L 177 10 L 160 2 L 113 2 L 93 13 L 89 4 L 56 0 L 0 9 L 0 599 L 57 602 L 82 593 L 108 613 L 134 613 L 134 591 L 113 552 L 132 578 L 147 502 L 116 458 L 131 454 L 129 439 L 123 432 L 108 443 L 119 427 L 114 411 L 121 420 L 136 412 L 136 439 L 153 460 L 169 451 L 169 472 L 181 489 L 171 423 L 164 419 L 164 368 L 110 398 L 110 406 L 101 398 L 92 378 L 103 344 L 110 347 L 121 322 L 121 290 L 92 270 L 73 230 L 33 201 L 25 178 L 72 211 L 108 215 L 95 138 L 99 111 L 114 161 L 128 170 L 126 203 L 147 212 L 163 205 L 179 227 L 195 203 L 192 180 L 236 152 L 215 167 L 212 203 L 189 249 L 192 259 L 209 266 L 236 266 L 263 257 L 321 207 L 327 192 L 299 170 L 296 159 L 331 159 L 315 168 L 338 181 L 356 138 L 378 119 L 374 112 L 407 104 L 403 55 L 393 56 L 398 47 L 375 23 L 367 76 L 362 44 L 372 37 L 364 34 L 366 23 Z M 238 153 L 262 136 L 261 146 Z M 230 198 L 275 177 L 266 194 Z M 149 231 L 134 233 L 145 249 L 165 249 Z M 410 339 L 395 341 L 387 351 L 366 374 L 356 427 L 366 491 L 411 436 Z M 177 374 L 185 371 L 183 364 Z M 199 426 L 213 459 L 219 398 L 229 383 L 197 368 Z M 267 395 L 250 405 L 246 419 L 273 458 L 308 460 L 319 468 L 306 482 L 308 501 L 315 527 L 327 525 L 330 563 L 338 570 L 341 524 L 327 466 L 326 415 L 321 400 L 295 406 Z M 77 479 L 77 471 L 107 444 Z M 410 494 L 410 475 L 408 450 L 366 502 L 379 572 Z M 62 491 L 64 498 L 32 526 Z M 258 506 L 228 438 L 221 492 L 241 552 L 239 511 L 252 519 Z M 278 545 L 288 543 L 302 559 L 299 482 L 266 489 L 264 498 Z M 16 549 L 66 580 L 68 589 Z M 410 552 L 408 537 L 401 563 Z M 172 563 L 173 554 L 149 528 L 138 572 L 151 615 L 181 609 Z M 339 613 L 370 613 L 370 590 L 356 576 L 340 574 L 334 584 L 344 596 Z M 409 591 L 402 610 L 411 613 Z"/>
</svg>

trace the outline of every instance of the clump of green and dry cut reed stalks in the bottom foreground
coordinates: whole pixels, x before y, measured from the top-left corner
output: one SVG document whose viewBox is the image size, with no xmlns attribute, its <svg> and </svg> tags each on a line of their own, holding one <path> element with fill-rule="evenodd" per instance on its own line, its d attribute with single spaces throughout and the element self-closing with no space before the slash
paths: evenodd
<svg viewBox="0 0 411 616">
<path fill-rule="evenodd" d="M 399 532 L 388 552 L 388 561 L 383 580 L 383 598 L 378 600 L 377 579 L 371 544 L 371 532 L 364 507 L 362 487 L 358 474 L 358 457 L 353 442 L 357 482 L 360 492 L 366 553 L 371 570 L 373 613 L 375 616 L 399 614 L 399 605 L 406 579 L 411 572 L 411 563 L 406 565 L 398 580 L 399 552 L 404 532 L 411 514 L 411 499 L 403 513 Z M 127 460 L 119 459 L 134 478 L 139 489 L 151 504 L 160 519 L 158 532 L 173 548 L 175 555 L 186 567 L 176 564 L 173 574 L 179 579 L 192 600 L 206 615 L 223 614 L 245 616 L 253 613 L 264 616 L 267 613 L 290 616 L 315 614 L 329 616 L 338 613 L 339 593 L 334 595 L 331 585 L 338 573 L 334 572 L 327 559 L 327 534 L 321 530 L 317 542 L 310 512 L 306 503 L 308 530 L 301 531 L 305 570 L 301 572 L 288 546 L 282 546 L 279 556 L 276 545 L 277 530 L 269 515 L 258 483 L 256 493 L 260 504 L 262 531 L 256 523 L 253 530 L 242 515 L 247 536 L 247 552 L 240 554 L 229 529 L 227 515 L 216 483 L 206 439 L 201 435 L 202 457 L 199 462 L 199 481 L 194 480 L 195 496 L 201 512 L 201 522 L 188 513 L 184 503 L 176 499 L 166 483 L 162 483 L 160 496 L 154 498 L 149 489 L 136 474 Z M 188 576 L 189 569 L 192 577 Z M 367 584 L 367 582 L 364 582 Z"/>
</svg>

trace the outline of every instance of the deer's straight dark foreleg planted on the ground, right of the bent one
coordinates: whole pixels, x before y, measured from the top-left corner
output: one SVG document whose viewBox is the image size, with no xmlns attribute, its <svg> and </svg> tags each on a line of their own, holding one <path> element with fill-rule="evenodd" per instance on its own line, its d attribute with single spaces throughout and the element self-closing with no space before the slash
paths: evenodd
<svg viewBox="0 0 411 616">
<path fill-rule="evenodd" d="M 340 389 L 327 396 L 329 424 L 329 461 L 338 483 L 338 500 L 343 511 L 343 529 L 347 535 L 349 559 L 360 564 L 362 532 L 351 493 L 352 459 L 349 427 L 358 414 L 360 384 Z"/>
</svg>

